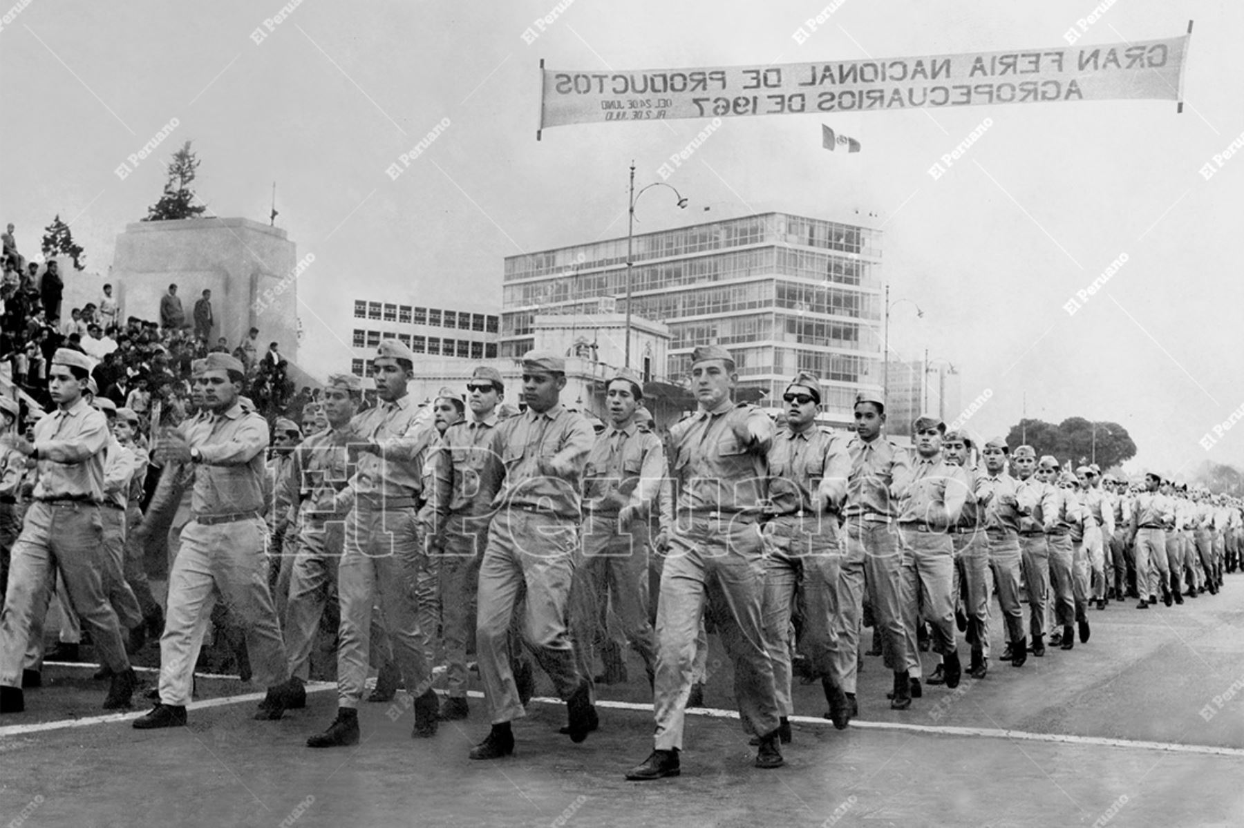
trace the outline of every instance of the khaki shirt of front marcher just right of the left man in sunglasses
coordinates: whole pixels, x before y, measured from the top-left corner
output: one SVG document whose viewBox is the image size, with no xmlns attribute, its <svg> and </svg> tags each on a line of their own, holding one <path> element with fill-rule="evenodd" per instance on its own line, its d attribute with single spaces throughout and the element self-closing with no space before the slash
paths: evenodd
<svg viewBox="0 0 1244 828">
<path fill-rule="evenodd" d="M 500 458 L 493 464 L 494 508 L 551 512 L 565 520 L 580 520 L 580 492 L 587 454 L 596 431 L 582 414 L 567 412 L 560 403 L 537 414 L 530 408 L 493 429 L 490 448 Z M 544 460 L 550 471 L 542 471 Z"/>
</svg>

